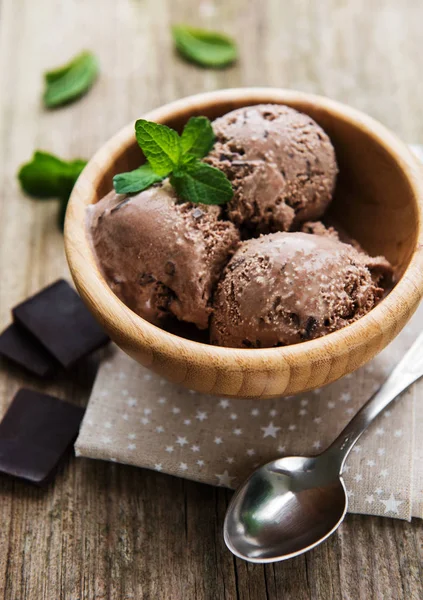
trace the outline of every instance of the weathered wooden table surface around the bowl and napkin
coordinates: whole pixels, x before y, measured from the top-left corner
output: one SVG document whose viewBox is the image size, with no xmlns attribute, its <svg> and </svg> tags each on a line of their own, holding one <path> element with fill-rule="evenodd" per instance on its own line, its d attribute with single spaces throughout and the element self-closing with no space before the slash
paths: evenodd
<svg viewBox="0 0 423 600">
<path fill-rule="evenodd" d="M 0 325 L 68 277 L 57 205 L 20 193 L 35 148 L 89 157 L 122 125 L 204 90 L 272 85 L 326 94 L 423 142 L 423 4 L 417 0 L 0 0 Z M 237 66 L 209 71 L 173 52 L 170 25 L 235 36 Z M 83 48 L 101 78 L 82 101 L 42 109 L 42 72 Z M 91 365 L 93 366 L 93 365 Z M 40 385 L 0 364 L 0 413 L 22 384 L 84 405 L 93 368 Z M 0 598 L 421 600 L 423 524 L 349 516 L 286 563 L 234 560 L 222 540 L 229 492 L 72 459 L 46 490 L 0 479 Z"/>
</svg>

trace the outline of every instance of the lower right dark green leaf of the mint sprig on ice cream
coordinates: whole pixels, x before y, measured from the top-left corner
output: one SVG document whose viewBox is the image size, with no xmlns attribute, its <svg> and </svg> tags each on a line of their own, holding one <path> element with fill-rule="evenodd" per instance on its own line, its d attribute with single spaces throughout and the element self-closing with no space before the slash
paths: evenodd
<svg viewBox="0 0 423 600">
<path fill-rule="evenodd" d="M 199 160 L 185 172 L 172 175 L 170 183 L 180 198 L 196 204 L 225 204 L 233 196 L 225 174 Z"/>
</svg>

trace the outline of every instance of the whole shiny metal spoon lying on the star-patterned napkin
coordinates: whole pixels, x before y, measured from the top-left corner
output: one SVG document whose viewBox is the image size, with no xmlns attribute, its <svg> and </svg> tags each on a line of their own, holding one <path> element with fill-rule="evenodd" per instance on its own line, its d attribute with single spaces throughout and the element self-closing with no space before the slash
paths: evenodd
<svg viewBox="0 0 423 600">
<path fill-rule="evenodd" d="M 274 460 L 244 482 L 226 513 L 229 550 L 249 562 L 276 562 L 307 552 L 334 533 L 347 512 L 341 473 L 348 454 L 376 417 L 422 376 L 423 333 L 327 450 Z"/>
</svg>

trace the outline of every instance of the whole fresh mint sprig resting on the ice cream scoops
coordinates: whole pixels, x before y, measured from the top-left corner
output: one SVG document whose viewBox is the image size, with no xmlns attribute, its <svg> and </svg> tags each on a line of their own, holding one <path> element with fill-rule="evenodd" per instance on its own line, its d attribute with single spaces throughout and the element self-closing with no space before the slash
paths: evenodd
<svg viewBox="0 0 423 600">
<path fill-rule="evenodd" d="M 187 202 L 225 204 L 232 198 L 226 175 L 200 160 L 214 144 L 213 128 L 206 117 L 191 117 L 180 136 L 166 125 L 139 119 L 135 135 L 147 162 L 115 175 L 117 193 L 141 192 L 168 176 L 178 196 Z"/>
</svg>

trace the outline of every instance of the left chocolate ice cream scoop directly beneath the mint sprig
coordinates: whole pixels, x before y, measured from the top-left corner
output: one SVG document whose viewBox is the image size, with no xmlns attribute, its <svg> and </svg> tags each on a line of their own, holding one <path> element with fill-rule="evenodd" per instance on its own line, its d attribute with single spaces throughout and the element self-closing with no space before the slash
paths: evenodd
<svg viewBox="0 0 423 600">
<path fill-rule="evenodd" d="M 218 206 L 178 203 L 168 182 L 133 196 L 110 192 L 89 218 L 112 290 L 151 323 L 173 315 L 205 329 L 213 288 L 239 242 L 220 213 Z"/>
</svg>

